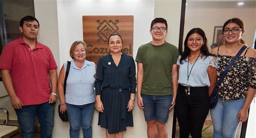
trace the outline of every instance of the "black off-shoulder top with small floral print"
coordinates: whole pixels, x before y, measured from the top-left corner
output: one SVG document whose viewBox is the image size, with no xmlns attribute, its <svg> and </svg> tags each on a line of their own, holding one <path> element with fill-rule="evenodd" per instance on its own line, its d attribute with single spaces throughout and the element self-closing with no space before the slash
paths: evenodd
<svg viewBox="0 0 256 138">
<path fill-rule="evenodd" d="M 218 52 L 217 82 L 233 58 Z M 245 99 L 248 87 L 256 88 L 255 58 L 240 56 L 218 87 L 217 95 L 226 100 Z"/>
</svg>

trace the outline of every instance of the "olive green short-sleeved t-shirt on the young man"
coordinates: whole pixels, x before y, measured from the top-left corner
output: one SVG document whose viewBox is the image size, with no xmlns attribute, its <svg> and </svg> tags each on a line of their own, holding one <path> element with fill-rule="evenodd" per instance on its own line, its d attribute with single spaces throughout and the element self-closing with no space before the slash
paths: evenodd
<svg viewBox="0 0 256 138">
<path fill-rule="evenodd" d="M 142 94 L 171 95 L 172 65 L 177 63 L 179 51 L 176 46 L 165 42 L 154 46 L 151 43 L 139 47 L 136 62 L 143 64 Z"/>
</svg>

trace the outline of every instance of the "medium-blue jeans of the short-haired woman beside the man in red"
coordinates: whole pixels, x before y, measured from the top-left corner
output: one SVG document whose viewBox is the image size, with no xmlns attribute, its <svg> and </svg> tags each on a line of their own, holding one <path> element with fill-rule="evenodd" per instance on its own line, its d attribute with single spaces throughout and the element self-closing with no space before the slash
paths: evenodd
<svg viewBox="0 0 256 138">
<path fill-rule="evenodd" d="M 66 103 L 70 123 L 70 137 L 79 137 L 79 130 L 82 126 L 84 138 L 92 137 L 92 115 L 95 102 L 86 105 L 71 105 Z"/>
</svg>

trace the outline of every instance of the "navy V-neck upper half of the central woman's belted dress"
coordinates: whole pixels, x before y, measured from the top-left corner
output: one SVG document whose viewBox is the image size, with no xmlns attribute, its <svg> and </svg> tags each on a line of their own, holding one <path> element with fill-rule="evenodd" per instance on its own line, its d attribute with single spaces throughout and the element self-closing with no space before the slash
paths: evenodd
<svg viewBox="0 0 256 138">
<path fill-rule="evenodd" d="M 121 55 L 118 66 L 114 64 L 111 54 L 101 57 L 97 65 L 96 75 L 96 95 L 100 95 L 102 88 L 107 87 L 130 89 L 131 93 L 136 91 L 134 59 L 124 53 Z"/>
</svg>

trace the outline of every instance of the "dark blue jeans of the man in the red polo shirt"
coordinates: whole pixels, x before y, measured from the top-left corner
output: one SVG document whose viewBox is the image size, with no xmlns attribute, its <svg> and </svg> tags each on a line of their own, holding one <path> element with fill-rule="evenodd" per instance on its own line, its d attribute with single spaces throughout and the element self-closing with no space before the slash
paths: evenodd
<svg viewBox="0 0 256 138">
<path fill-rule="evenodd" d="M 44 102 L 39 105 L 23 106 L 15 109 L 19 126 L 21 126 L 21 137 L 34 137 L 36 116 L 40 123 L 41 137 L 51 137 L 54 122 L 55 103 Z"/>
</svg>

